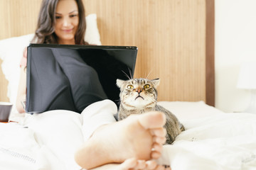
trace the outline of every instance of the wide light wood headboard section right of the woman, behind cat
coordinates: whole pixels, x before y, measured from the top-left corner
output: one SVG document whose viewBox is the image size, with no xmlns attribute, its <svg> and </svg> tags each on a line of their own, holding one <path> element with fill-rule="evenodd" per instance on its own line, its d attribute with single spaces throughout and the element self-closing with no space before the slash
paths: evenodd
<svg viewBox="0 0 256 170">
<path fill-rule="evenodd" d="M 139 48 L 135 77 L 159 77 L 159 100 L 206 101 L 206 1 L 85 0 L 85 6 L 97 13 L 103 45 Z"/>
</svg>

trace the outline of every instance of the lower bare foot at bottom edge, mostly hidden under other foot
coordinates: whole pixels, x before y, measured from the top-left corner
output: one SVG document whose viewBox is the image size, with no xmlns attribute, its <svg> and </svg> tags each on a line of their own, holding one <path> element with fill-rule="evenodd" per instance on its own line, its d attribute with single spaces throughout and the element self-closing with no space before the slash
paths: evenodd
<svg viewBox="0 0 256 170">
<path fill-rule="evenodd" d="M 171 170 L 159 164 L 154 160 L 144 161 L 135 158 L 127 159 L 122 164 L 106 164 L 91 170 Z"/>
</svg>

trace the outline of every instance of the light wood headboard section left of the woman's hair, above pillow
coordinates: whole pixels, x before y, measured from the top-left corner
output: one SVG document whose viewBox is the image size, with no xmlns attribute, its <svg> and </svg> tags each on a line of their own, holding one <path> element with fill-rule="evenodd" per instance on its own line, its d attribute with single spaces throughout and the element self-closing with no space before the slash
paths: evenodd
<svg viewBox="0 0 256 170">
<path fill-rule="evenodd" d="M 41 0 L 0 0 L 0 40 L 34 33 Z"/>
</svg>

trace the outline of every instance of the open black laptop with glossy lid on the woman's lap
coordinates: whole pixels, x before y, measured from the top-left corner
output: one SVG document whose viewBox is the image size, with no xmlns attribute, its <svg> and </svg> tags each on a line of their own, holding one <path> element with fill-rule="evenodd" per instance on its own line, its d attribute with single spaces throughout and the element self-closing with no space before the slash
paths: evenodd
<svg viewBox="0 0 256 170">
<path fill-rule="evenodd" d="M 25 111 L 81 113 L 105 99 L 119 106 L 116 80 L 133 77 L 136 58 L 134 46 L 30 44 Z"/>
</svg>

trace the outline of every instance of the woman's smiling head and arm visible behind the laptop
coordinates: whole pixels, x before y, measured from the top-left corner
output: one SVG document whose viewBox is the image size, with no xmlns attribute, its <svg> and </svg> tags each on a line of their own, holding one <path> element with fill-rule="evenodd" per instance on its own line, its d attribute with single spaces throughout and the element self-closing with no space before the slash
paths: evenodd
<svg viewBox="0 0 256 170">
<path fill-rule="evenodd" d="M 63 2 L 60 1 L 57 6 L 58 1 L 42 1 L 33 43 L 88 45 L 84 40 L 86 23 L 82 1 Z M 23 101 L 26 100 L 26 60 L 25 49 L 21 59 L 21 78 L 16 99 L 16 108 L 19 113 L 25 112 Z"/>
</svg>

